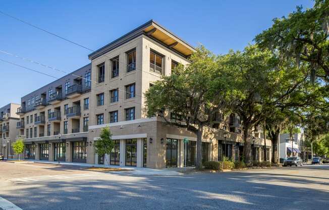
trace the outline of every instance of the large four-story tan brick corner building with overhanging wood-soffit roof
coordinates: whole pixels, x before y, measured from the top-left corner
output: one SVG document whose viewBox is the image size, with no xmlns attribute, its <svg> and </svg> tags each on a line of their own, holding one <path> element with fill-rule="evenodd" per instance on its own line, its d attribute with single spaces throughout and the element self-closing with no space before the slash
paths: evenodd
<svg viewBox="0 0 329 210">
<path fill-rule="evenodd" d="M 70 74 L 22 98 L 25 110 L 19 112 L 21 119 L 38 120 L 37 124 L 33 121 L 21 130 L 26 136 L 26 158 L 57 161 L 58 152 L 62 151 L 65 158 L 61 161 L 150 168 L 194 166 L 196 136 L 186 129 L 166 125 L 161 117 L 147 118 L 144 98 L 147 89 L 162 75 L 170 75 L 179 63 L 188 65 L 194 51 L 193 46 L 152 20 L 96 50 L 89 55 L 91 64 L 77 70 L 80 74 L 74 72 L 81 77 L 91 72 L 90 92 L 71 96 L 63 92 L 69 79 L 71 85 L 84 83 Z M 67 89 L 70 88 L 68 85 Z M 48 93 L 50 89 L 52 92 Z M 61 92 L 63 97 L 54 103 L 52 95 L 56 92 Z M 48 99 L 39 107 L 35 105 L 35 97 L 38 101 Z M 83 104 L 86 98 L 89 98 L 88 110 L 81 108 L 81 114 L 74 116 L 65 114 L 69 108 Z M 163 115 L 168 119 L 180 117 L 169 111 Z M 43 123 L 39 123 L 39 118 L 44 119 Z M 239 117 L 231 115 L 223 119 L 218 114 L 216 119 L 213 128 L 204 130 L 203 161 L 218 161 L 224 155 L 240 160 L 243 138 Z M 78 124 L 80 128 L 89 127 L 76 132 Z M 111 129 L 115 148 L 111 154 L 98 156 L 93 145 L 106 126 Z M 255 160 L 261 160 L 259 148 L 263 145 L 263 139 L 254 139 Z M 266 145 L 270 154 L 270 141 Z"/>
</svg>

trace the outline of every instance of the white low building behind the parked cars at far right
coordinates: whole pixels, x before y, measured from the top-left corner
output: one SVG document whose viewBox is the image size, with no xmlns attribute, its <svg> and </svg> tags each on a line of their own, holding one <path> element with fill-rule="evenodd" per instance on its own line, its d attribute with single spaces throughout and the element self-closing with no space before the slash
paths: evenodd
<svg viewBox="0 0 329 210">
<path fill-rule="evenodd" d="M 304 133 L 293 134 L 293 140 L 290 139 L 289 133 L 282 133 L 280 134 L 279 142 L 279 156 L 281 159 L 286 159 L 290 156 L 299 156 L 305 162 L 308 160 Z"/>
</svg>

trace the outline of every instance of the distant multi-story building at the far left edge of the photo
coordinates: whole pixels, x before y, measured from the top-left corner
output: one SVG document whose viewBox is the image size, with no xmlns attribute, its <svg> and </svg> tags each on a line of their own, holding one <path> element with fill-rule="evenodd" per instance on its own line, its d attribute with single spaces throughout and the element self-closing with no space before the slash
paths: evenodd
<svg viewBox="0 0 329 210">
<path fill-rule="evenodd" d="M 20 104 L 9 103 L 0 108 L 0 153 L 3 153 L 8 159 L 18 158 L 18 154 L 13 151 L 12 143 L 16 141 L 16 126 L 19 123 L 16 110 L 19 107 Z"/>
</svg>

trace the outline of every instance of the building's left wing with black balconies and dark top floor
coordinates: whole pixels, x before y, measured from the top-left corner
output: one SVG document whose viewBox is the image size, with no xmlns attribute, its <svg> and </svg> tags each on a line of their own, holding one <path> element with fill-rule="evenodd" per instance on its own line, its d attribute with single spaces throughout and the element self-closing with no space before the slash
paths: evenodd
<svg viewBox="0 0 329 210">
<path fill-rule="evenodd" d="M 18 134 L 26 159 L 79 161 L 66 151 L 88 137 L 90 79 L 88 64 L 21 98 L 17 114 L 25 126 Z"/>
</svg>

